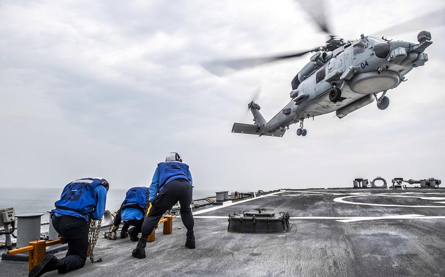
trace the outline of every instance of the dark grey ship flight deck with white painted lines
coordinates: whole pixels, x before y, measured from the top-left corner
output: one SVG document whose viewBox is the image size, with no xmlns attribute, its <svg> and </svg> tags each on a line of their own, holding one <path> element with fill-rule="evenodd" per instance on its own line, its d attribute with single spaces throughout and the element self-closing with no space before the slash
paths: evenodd
<svg viewBox="0 0 445 277">
<path fill-rule="evenodd" d="M 233 212 L 289 211 L 280 234 L 227 233 Z M 412 188 L 281 190 L 194 210 L 197 248 L 185 229 L 156 231 L 146 259 L 135 242 L 101 237 L 95 257 L 69 276 L 444 276 L 445 190 Z M 178 229 L 182 227 L 182 229 Z M 102 236 L 102 233 L 101 233 Z M 64 253 L 59 253 L 62 257 Z M 0 262 L 4 276 L 26 276 L 24 262 Z M 45 276 L 58 276 L 57 272 Z"/>
</svg>

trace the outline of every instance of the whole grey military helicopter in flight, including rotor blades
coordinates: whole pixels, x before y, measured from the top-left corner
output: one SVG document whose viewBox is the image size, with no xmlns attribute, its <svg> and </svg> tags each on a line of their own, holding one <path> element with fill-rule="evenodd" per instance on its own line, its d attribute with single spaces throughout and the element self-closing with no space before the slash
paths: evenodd
<svg viewBox="0 0 445 277">
<path fill-rule="evenodd" d="M 210 61 L 201 64 L 209 72 L 223 76 L 228 71 L 314 53 L 291 80 L 291 100 L 284 108 L 267 121 L 260 113 L 260 105 L 252 100 L 247 108 L 253 115 L 254 124 L 234 123 L 232 133 L 283 137 L 286 130 L 289 130 L 289 125 L 299 122 L 300 127 L 296 135 L 305 137 L 308 132 L 304 128 L 304 119 L 332 112 L 342 119 L 375 100 L 378 109 L 384 110 L 389 106 L 389 98 L 386 96 L 388 90 L 398 87 L 406 80 L 405 75 L 408 72 L 428 61 L 424 50 L 433 43 L 428 31 L 418 34 L 418 43 L 363 34 L 358 40 L 344 40 L 332 35 L 325 17 L 314 13 L 307 4 L 303 5 L 303 8 L 309 12 L 320 29 L 329 35 L 324 45 L 290 55 Z M 319 11 L 320 5 L 316 8 Z M 433 16 L 442 17 L 443 12 L 444 9 L 436 10 L 410 21 L 423 22 L 422 19 L 430 19 Z M 443 20 L 435 23 L 443 24 Z M 400 26 L 403 26 L 403 23 L 385 31 L 391 33 Z"/>
</svg>

